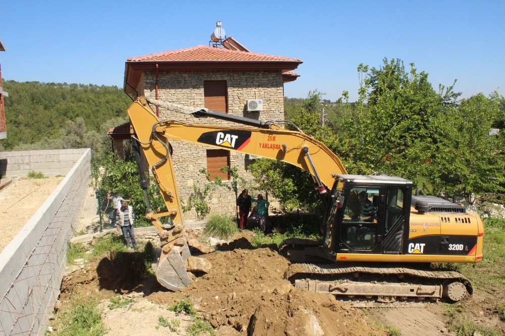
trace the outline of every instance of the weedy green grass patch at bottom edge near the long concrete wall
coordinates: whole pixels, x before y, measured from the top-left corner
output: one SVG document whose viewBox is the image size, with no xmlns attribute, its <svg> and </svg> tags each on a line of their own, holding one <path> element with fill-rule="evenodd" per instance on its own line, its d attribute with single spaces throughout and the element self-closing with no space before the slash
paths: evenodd
<svg viewBox="0 0 505 336">
<path fill-rule="evenodd" d="M 98 300 L 90 297 L 74 297 L 65 308 L 58 311 L 54 321 L 54 333 L 61 336 L 105 334 L 102 312 Z"/>
</svg>

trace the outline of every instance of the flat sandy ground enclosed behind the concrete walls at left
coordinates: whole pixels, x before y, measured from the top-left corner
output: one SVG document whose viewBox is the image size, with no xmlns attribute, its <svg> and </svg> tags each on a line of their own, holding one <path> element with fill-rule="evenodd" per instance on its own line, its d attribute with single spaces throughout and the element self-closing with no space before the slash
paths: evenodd
<svg viewBox="0 0 505 336">
<path fill-rule="evenodd" d="M 28 219 L 63 181 L 63 177 L 21 178 L 0 191 L 0 251 L 21 231 Z"/>
</svg>

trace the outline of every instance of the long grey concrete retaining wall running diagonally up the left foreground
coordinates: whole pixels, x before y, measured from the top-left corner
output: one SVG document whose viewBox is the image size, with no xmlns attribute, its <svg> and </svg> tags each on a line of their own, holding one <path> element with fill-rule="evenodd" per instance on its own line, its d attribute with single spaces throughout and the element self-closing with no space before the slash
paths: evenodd
<svg viewBox="0 0 505 336">
<path fill-rule="evenodd" d="M 0 252 L 0 335 L 44 333 L 89 184 L 91 150 L 80 151 L 65 179 Z"/>
</svg>

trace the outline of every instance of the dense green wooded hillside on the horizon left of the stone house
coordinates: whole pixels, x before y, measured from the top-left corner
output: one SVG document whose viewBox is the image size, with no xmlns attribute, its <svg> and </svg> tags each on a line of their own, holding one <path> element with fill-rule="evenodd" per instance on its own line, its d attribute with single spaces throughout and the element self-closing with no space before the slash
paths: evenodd
<svg viewBox="0 0 505 336">
<path fill-rule="evenodd" d="M 20 143 L 32 144 L 60 138 L 68 121 L 82 117 L 86 130 L 100 131 L 113 118 L 125 117 L 131 100 L 117 86 L 67 83 L 3 82 L 7 139 L 0 146 L 12 150 Z"/>
</svg>

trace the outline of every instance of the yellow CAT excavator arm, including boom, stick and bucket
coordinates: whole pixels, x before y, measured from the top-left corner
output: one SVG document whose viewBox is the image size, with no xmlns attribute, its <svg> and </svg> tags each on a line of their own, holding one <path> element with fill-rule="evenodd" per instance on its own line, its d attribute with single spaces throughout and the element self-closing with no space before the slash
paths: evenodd
<svg viewBox="0 0 505 336">
<path fill-rule="evenodd" d="M 185 239 L 170 140 L 187 141 L 290 163 L 309 172 L 320 193 L 325 193 L 327 186 L 333 186 L 337 174 L 346 174 L 340 159 L 323 143 L 301 131 L 281 128 L 274 122 L 259 122 L 207 109 L 196 110 L 192 115 L 195 118 L 213 117 L 248 127 L 160 121 L 144 97 L 132 103 L 128 108 L 128 115 L 133 126 L 133 147 L 139 165 L 141 186 L 149 209 L 147 219 L 160 231 L 162 254 L 156 273 L 158 281 L 170 290 L 176 291 L 191 282 L 184 267 L 184 260 L 190 254 Z M 166 211 L 150 210 L 145 192 L 147 183 L 140 162 L 141 153 L 160 187 Z M 163 216 L 172 218 L 171 228 L 165 228 L 158 219 Z"/>
</svg>

